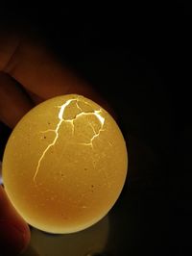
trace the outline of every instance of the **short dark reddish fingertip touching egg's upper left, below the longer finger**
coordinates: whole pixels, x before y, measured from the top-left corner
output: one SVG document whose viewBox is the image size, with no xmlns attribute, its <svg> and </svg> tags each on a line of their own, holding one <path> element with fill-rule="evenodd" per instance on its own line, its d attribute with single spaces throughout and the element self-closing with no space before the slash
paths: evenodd
<svg viewBox="0 0 192 256">
<path fill-rule="evenodd" d="M 24 90 L 10 76 L 0 73 L 0 120 L 12 128 L 32 107 Z"/>
</svg>

